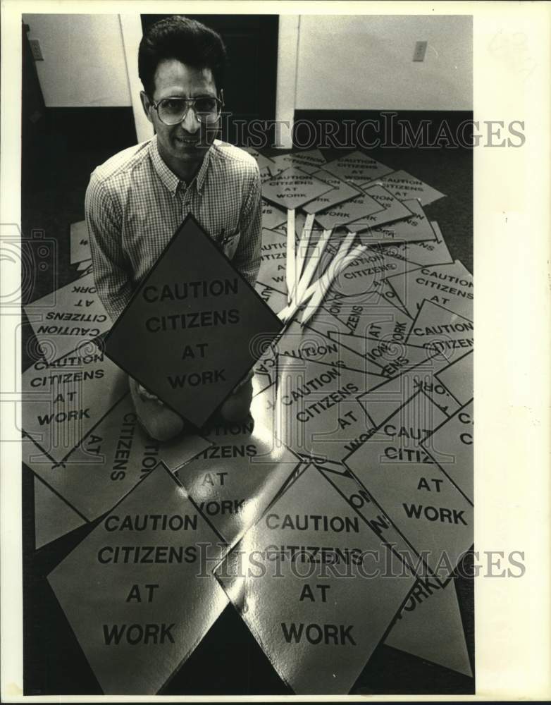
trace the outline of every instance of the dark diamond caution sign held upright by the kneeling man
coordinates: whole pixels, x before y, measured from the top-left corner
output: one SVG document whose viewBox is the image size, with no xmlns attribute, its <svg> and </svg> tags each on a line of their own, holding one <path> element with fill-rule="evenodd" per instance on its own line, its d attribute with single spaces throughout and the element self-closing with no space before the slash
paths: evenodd
<svg viewBox="0 0 551 705">
<path fill-rule="evenodd" d="M 189 215 L 106 338 L 106 353 L 197 427 L 282 324 Z"/>
</svg>

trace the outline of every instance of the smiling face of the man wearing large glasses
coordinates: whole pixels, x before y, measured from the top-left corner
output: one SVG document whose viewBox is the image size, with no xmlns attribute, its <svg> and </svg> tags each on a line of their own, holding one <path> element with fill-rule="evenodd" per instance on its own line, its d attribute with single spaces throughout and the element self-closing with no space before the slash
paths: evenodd
<svg viewBox="0 0 551 705">
<path fill-rule="evenodd" d="M 159 62 L 154 85 L 155 103 L 169 97 L 216 98 L 218 95 L 210 68 L 192 68 L 177 59 Z M 157 111 L 151 107 L 145 94 L 142 94 L 142 103 L 149 121 L 155 126 L 159 153 L 168 166 L 181 164 L 183 168 L 189 168 L 201 164 L 216 136 L 216 125 L 209 125 L 208 128 L 202 125 L 192 109 L 188 109 L 181 123 L 165 125 L 159 120 Z"/>
</svg>

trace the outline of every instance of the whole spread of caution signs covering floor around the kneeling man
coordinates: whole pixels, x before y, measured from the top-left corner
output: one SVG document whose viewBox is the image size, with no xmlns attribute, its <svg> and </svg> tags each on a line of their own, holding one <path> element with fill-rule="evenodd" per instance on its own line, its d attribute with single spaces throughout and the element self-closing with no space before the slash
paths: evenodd
<svg viewBox="0 0 551 705">
<path fill-rule="evenodd" d="M 249 152 L 255 289 L 188 217 L 105 352 L 75 352 L 109 327 L 89 275 L 29 307 L 55 345 L 23 376 L 36 545 L 99 521 L 51 587 L 109 694 L 159 692 L 228 601 L 297 694 L 347 694 L 379 644 L 471 676 L 473 280 L 442 194 L 360 152 Z M 216 421 L 253 366 L 249 417 Z M 150 439 L 125 372 L 201 435 Z"/>
</svg>

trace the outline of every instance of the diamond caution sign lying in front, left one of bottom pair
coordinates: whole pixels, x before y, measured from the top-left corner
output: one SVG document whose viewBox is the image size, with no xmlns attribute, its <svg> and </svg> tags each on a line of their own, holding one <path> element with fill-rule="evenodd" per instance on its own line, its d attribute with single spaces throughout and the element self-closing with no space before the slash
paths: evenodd
<svg viewBox="0 0 551 705">
<path fill-rule="evenodd" d="M 190 656 L 228 603 L 220 543 L 159 465 L 49 574 L 106 694 L 155 694 Z"/>
</svg>

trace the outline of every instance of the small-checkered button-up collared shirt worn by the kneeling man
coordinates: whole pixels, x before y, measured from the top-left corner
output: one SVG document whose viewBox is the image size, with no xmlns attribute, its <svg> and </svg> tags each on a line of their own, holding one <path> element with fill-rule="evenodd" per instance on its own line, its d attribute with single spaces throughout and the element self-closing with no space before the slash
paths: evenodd
<svg viewBox="0 0 551 705">
<path fill-rule="evenodd" d="M 85 213 L 97 293 L 113 321 L 191 213 L 254 286 L 260 267 L 261 183 L 256 161 L 215 140 L 187 185 L 156 137 L 98 166 Z"/>
</svg>

